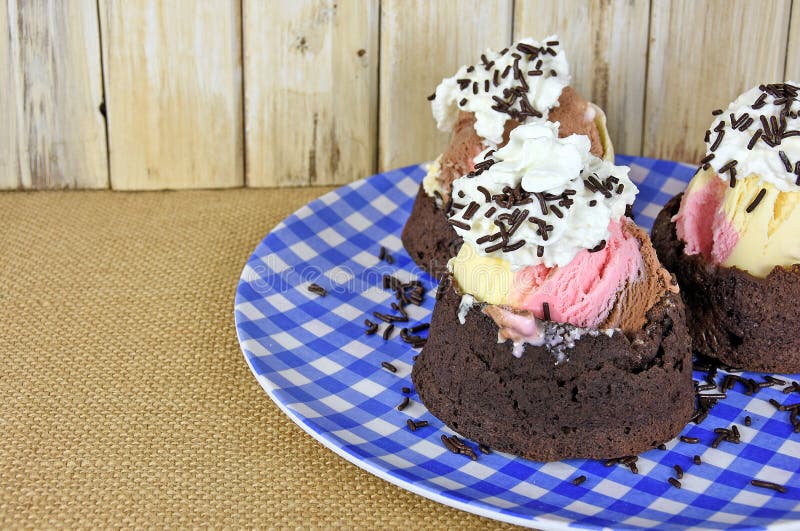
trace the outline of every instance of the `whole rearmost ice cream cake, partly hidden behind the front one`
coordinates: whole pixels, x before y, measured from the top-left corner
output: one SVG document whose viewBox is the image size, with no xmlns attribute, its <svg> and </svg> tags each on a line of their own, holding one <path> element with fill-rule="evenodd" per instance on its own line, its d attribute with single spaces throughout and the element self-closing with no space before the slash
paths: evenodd
<svg viewBox="0 0 800 531">
<path fill-rule="evenodd" d="M 551 36 L 487 50 L 436 87 L 429 97 L 433 116 L 451 138 L 428 166 L 403 229 L 403 245 L 418 266 L 436 278 L 446 272 L 462 241 L 447 222 L 448 212 L 463 199 L 452 196 L 453 181 L 485 167 L 479 155 L 505 145 L 520 124 L 558 123 L 560 136 L 586 135 L 594 155 L 614 160 L 605 114 L 570 82 L 566 54 Z"/>
</svg>

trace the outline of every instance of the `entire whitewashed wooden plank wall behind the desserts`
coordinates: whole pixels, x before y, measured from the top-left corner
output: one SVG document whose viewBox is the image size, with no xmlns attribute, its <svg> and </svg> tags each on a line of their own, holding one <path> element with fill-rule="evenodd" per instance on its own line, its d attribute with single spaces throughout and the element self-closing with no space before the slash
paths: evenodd
<svg viewBox="0 0 800 531">
<path fill-rule="evenodd" d="M 431 159 L 425 96 L 523 36 L 560 35 L 619 153 L 696 161 L 712 109 L 800 80 L 800 0 L 0 0 L 0 30 L 6 189 L 337 184 Z"/>
</svg>

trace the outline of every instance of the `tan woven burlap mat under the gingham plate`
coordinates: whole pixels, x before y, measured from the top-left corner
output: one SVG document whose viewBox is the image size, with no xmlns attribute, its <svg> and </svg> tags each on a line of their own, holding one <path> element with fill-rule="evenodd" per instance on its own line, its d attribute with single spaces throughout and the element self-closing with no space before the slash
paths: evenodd
<svg viewBox="0 0 800 531">
<path fill-rule="evenodd" d="M 502 527 L 336 456 L 250 374 L 239 273 L 325 191 L 0 194 L 0 528 Z"/>
</svg>

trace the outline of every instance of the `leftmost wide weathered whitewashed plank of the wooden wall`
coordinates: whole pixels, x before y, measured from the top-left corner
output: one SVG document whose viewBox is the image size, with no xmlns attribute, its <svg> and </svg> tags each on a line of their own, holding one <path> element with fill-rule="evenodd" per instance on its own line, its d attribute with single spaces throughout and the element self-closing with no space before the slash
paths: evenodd
<svg viewBox="0 0 800 531">
<path fill-rule="evenodd" d="M 0 137 L 4 185 L 107 187 L 96 3 L 7 0 L 6 8 L 0 85 L 9 92 L 0 105 L 12 117 Z"/>
</svg>

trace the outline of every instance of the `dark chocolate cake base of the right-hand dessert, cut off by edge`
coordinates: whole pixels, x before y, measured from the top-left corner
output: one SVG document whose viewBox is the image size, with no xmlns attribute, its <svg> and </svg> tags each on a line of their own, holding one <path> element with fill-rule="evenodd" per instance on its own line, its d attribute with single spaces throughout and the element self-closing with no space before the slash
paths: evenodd
<svg viewBox="0 0 800 531">
<path fill-rule="evenodd" d="M 682 195 L 658 214 L 652 239 L 680 284 L 695 350 L 749 371 L 800 372 L 800 265 L 758 278 L 684 254 L 672 222 Z"/>
</svg>

